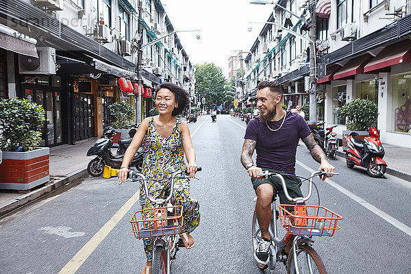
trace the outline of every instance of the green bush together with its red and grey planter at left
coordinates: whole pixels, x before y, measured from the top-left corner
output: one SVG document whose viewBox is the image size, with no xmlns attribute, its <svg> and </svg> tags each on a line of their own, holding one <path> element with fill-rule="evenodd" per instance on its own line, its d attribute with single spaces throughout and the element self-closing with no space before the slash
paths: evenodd
<svg viewBox="0 0 411 274">
<path fill-rule="evenodd" d="M 0 188 L 29 190 L 48 182 L 49 148 L 38 147 L 45 110 L 27 99 L 0 101 Z"/>
</svg>

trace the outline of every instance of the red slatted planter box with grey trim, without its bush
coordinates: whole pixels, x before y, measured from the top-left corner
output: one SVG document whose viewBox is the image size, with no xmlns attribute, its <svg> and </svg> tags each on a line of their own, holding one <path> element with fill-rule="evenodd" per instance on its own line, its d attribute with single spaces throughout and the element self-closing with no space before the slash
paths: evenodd
<svg viewBox="0 0 411 274">
<path fill-rule="evenodd" d="M 48 147 L 27 152 L 3 151 L 0 164 L 0 189 L 29 190 L 49 182 Z"/>
</svg>

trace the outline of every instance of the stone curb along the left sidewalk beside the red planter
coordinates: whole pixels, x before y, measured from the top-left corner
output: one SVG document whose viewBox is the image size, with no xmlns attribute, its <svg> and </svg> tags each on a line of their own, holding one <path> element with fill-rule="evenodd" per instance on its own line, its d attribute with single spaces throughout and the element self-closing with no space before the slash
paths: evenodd
<svg viewBox="0 0 411 274">
<path fill-rule="evenodd" d="M 58 179 L 55 179 L 47 183 L 47 185 L 42 186 L 41 188 L 38 188 L 36 190 L 33 190 L 32 192 L 29 192 L 27 194 L 22 194 L 14 199 L 11 199 L 10 201 L 5 201 L 4 203 L 1 203 L 0 204 L 0 217 L 5 214 L 8 214 L 9 212 L 12 212 L 13 210 L 16 210 L 17 208 L 21 208 L 22 206 L 25 206 L 27 205 L 27 203 L 30 203 L 31 201 L 34 201 L 35 199 L 38 199 L 53 190 L 61 188 L 65 184 L 75 179 L 79 179 L 80 177 L 86 174 L 87 174 L 87 169 L 78 169 L 77 171 L 73 171 L 72 173 L 69 173 L 68 175 L 64 177 L 58 177 Z"/>
</svg>

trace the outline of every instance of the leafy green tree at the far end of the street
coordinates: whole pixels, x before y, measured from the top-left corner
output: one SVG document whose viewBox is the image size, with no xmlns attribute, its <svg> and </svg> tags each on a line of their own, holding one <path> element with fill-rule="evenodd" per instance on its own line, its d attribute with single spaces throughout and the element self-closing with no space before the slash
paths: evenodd
<svg viewBox="0 0 411 274">
<path fill-rule="evenodd" d="M 225 101 L 232 99 L 225 97 L 224 85 L 227 84 L 223 71 L 214 63 L 204 63 L 195 65 L 195 88 L 196 93 L 201 98 L 206 98 L 206 108 L 212 105 L 221 105 Z"/>
</svg>

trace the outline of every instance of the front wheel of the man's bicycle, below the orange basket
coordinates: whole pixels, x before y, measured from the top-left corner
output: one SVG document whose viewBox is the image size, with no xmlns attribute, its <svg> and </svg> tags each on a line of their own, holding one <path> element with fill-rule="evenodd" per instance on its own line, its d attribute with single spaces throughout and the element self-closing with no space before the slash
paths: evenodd
<svg viewBox="0 0 411 274">
<path fill-rule="evenodd" d="M 295 258 L 292 251 L 290 251 L 290 258 L 288 258 L 288 273 L 295 274 Z M 319 253 L 316 253 L 312 247 L 308 245 L 299 245 L 297 250 L 297 265 L 300 274 L 327 274 L 323 260 L 321 260 Z"/>
</svg>

